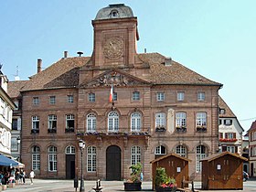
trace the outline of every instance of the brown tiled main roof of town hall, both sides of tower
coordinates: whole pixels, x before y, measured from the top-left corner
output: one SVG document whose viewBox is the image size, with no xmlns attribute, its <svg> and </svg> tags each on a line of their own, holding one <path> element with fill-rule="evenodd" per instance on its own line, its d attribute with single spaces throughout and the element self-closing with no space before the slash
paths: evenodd
<svg viewBox="0 0 256 192">
<path fill-rule="evenodd" d="M 170 66 L 165 66 L 165 57 L 158 53 L 138 54 L 138 58 L 150 69 L 150 80 L 153 84 L 169 85 L 208 85 L 222 86 L 222 84 L 208 80 L 172 60 Z M 76 57 L 59 59 L 56 63 L 42 70 L 28 80 L 21 91 L 43 90 L 49 88 L 69 88 L 79 84 L 79 70 L 86 65 L 90 57 Z M 142 77 L 142 79 L 144 79 Z"/>
</svg>

